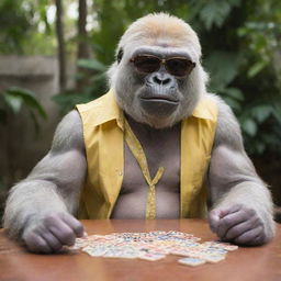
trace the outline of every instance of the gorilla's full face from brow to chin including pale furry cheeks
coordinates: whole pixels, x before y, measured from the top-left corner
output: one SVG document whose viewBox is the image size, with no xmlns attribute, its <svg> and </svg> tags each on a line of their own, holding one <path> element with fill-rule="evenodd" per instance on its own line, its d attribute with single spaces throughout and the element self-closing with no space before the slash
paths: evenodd
<svg viewBox="0 0 281 281">
<path fill-rule="evenodd" d="M 138 47 L 119 67 L 117 102 L 137 122 L 171 126 L 198 101 L 199 94 L 191 91 L 196 65 L 182 49 Z"/>
</svg>

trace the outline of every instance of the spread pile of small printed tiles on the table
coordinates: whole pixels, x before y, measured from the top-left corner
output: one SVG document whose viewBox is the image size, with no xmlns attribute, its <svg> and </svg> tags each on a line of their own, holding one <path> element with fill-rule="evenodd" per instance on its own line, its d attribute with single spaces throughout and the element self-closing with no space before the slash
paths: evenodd
<svg viewBox="0 0 281 281">
<path fill-rule="evenodd" d="M 228 251 L 237 248 L 235 245 L 220 241 L 200 243 L 200 238 L 192 234 L 176 231 L 90 235 L 77 238 L 71 247 L 92 257 L 138 258 L 149 261 L 164 259 L 167 255 L 177 255 L 184 257 L 178 262 L 193 267 L 224 260 Z"/>
</svg>

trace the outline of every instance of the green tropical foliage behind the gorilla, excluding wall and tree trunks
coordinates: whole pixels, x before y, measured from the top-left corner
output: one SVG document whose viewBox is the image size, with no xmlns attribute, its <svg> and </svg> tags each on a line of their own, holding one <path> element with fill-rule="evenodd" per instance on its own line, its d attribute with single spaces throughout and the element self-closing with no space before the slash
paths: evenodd
<svg viewBox="0 0 281 281">
<path fill-rule="evenodd" d="M 79 3 L 81 0 L 79 1 Z M 65 3 L 68 59 L 76 56 L 77 18 Z M 277 153 L 281 146 L 281 2 L 279 0 L 95 0 L 88 4 L 87 37 L 90 57 L 79 57 L 76 78 L 83 87 L 61 92 L 54 100 L 63 112 L 106 90 L 105 70 L 116 43 L 135 19 L 157 11 L 176 14 L 199 33 L 210 91 L 218 93 L 236 113 L 250 154 Z M 0 3 L 0 52 L 54 54 L 55 22 L 49 1 L 3 0 Z M 16 22 L 16 24 L 14 24 Z M 86 78 L 86 79 L 85 79 Z"/>
</svg>

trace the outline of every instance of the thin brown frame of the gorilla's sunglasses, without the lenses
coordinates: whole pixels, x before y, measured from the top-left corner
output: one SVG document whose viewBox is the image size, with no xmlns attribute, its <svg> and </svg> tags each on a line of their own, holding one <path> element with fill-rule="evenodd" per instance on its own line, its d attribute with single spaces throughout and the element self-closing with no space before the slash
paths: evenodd
<svg viewBox="0 0 281 281">
<path fill-rule="evenodd" d="M 139 70 L 139 68 L 135 65 L 135 59 L 136 59 L 137 57 L 156 58 L 156 59 L 159 61 L 159 65 L 158 65 L 158 67 L 157 67 L 156 69 L 154 69 L 153 71 Z M 172 74 L 172 71 L 170 71 L 170 69 L 169 69 L 169 67 L 168 67 L 168 65 L 167 65 L 167 61 L 172 60 L 172 59 L 182 59 L 182 60 L 186 60 L 186 61 L 188 61 L 188 63 L 190 64 L 190 67 L 187 68 L 187 71 L 186 71 L 184 75 L 178 76 L 178 75 Z M 168 74 L 170 74 L 170 75 L 172 75 L 172 76 L 175 76 L 175 77 L 180 77 L 180 78 L 186 77 L 187 75 L 190 75 L 191 71 L 193 70 L 193 68 L 196 66 L 195 63 L 193 63 L 191 59 L 189 59 L 189 58 L 187 58 L 187 57 L 175 56 L 175 57 L 169 57 L 169 58 L 161 58 L 161 57 L 158 57 L 158 56 L 156 56 L 156 55 L 150 55 L 150 54 L 136 55 L 136 56 L 134 56 L 134 57 L 132 57 L 132 58 L 130 59 L 130 63 L 134 64 L 134 67 L 135 67 L 136 70 L 137 70 L 138 72 L 140 72 L 140 74 L 153 74 L 153 72 L 156 72 L 156 71 L 158 71 L 158 70 L 160 69 L 160 67 L 164 65 L 166 71 L 167 71 Z"/>
</svg>

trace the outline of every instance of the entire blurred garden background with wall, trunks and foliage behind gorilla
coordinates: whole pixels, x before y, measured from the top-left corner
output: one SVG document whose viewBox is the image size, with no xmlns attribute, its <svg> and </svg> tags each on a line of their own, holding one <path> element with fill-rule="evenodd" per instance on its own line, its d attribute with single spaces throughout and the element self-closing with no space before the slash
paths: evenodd
<svg viewBox="0 0 281 281">
<path fill-rule="evenodd" d="M 9 189 L 49 149 L 61 116 L 106 91 L 104 72 L 127 25 L 157 11 L 198 32 L 209 90 L 234 110 L 280 220 L 280 0 L 1 0 L 0 217 Z"/>
</svg>

